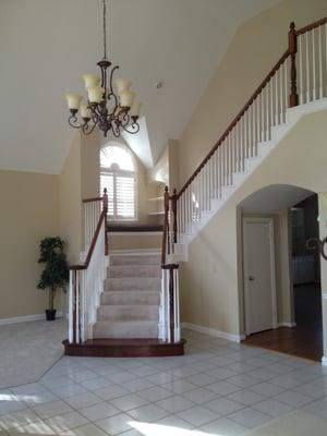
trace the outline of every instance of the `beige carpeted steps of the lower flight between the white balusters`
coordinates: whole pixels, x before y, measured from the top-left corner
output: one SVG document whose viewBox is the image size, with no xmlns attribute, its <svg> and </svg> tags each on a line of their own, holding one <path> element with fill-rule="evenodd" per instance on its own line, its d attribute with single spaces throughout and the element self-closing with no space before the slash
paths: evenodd
<svg viewBox="0 0 327 436">
<path fill-rule="evenodd" d="M 158 338 L 160 256 L 111 255 L 94 338 Z"/>
</svg>

